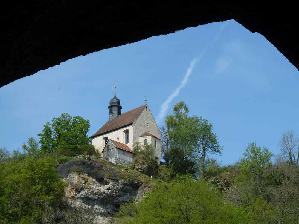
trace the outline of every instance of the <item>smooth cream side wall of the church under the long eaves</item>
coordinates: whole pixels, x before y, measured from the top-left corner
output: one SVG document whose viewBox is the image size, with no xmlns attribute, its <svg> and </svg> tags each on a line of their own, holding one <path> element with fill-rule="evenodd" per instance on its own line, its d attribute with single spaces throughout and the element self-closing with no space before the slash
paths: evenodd
<svg viewBox="0 0 299 224">
<path fill-rule="evenodd" d="M 102 152 L 103 147 L 104 147 L 104 141 L 103 138 L 108 137 L 109 139 L 121 142 L 121 143 L 125 143 L 125 134 L 124 131 L 129 130 L 129 143 L 127 143 L 126 145 L 132 149 L 133 146 L 133 127 L 132 125 L 130 126 L 126 126 L 124 128 L 120 128 L 118 130 L 103 134 L 103 135 L 99 135 L 97 137 L 94 137 L 93 139 L 91 139 L 91 145 L 94 145 L 94 147 L 99 150 L 100 152 Z M 118 138 L 118 139 L 117 139 Z"/>
</svg>

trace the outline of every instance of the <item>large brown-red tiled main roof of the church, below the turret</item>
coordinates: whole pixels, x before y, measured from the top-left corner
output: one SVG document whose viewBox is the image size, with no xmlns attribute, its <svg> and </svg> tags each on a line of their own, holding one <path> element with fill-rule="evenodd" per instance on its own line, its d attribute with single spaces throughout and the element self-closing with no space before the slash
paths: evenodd
<svg viewBox="0 0 299 224">
<path fill-rule="evenodd" d="M 145 105 L 142 105 L 141 107 L 138 107 L 138 108 L 135 108 L 126 113 L 120 114 L 112 122 L 107 121 L 107 123 L 104 124 L 103 127 L 100 128 L 96 133 L 94 133 L 91 136 L 91 138 L 99 136 L 101 134 L 105 134 L 110 131 L 117 130 L 119 128 L 126 127 L 128 125 L 132 125 L 144 107 L 145 107 Z"/>
</svg>

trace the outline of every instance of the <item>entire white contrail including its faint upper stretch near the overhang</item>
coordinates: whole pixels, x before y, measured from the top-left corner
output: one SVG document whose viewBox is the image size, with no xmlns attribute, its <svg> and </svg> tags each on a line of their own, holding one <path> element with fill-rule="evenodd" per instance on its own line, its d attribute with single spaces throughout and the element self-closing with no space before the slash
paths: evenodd
<svg viewBox="0 0 299 224">
<path fill-rule="evenodd" d="M 218 40 L 220 34 L 222 33 L 223 29 L 228 25 L 228 23 L 229 23 L 229 21 L 227 21 L 225 24 L 223 24 L 220 27 L 219 31 L 216 33 L 213 43 L 215 43 Z M 165 117 L 165 114 L 169 108 L 170 102 L 173 100 L 174 97 L 176 97 L 179 94 L 181 89 L 185 87 L 186 83 L 188 82 L 189 76 L 191 75 L 191 73 L 193 71 L 193 68 L 196 66 L 197 62 L 199 62 L 199 60 L 202 58 L 202 55 L 205 52 L 205 50 L 202 50 L 199 57 L 196 57 L 191 61 L 190 66 L 188 67 L 187 72 L 186 72 L 183 80 L 181 81 L 181 84 L 176 88 L 176 90 L 174 90 L 174 92 L 172 94 L 170 94 L 170 96 L 168 96 L 167 100 L 164 101 L 164 103 L 161 105 L 160 113 L 158 114 L 158 119 L 157 119 L 158 124 Z"/>
</svg>

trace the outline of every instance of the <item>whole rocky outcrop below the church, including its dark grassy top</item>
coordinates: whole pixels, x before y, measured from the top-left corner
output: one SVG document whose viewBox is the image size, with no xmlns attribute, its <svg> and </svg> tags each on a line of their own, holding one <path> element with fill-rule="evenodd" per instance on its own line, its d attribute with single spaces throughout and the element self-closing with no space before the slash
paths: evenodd
<svg viewBox="0 0 299 224">
<path fill-rule="evenodd" d="M 73 160 L 57 167 L 57 172 L 67 183 L 65 202 L 68 206 L 80 210 L 91 208 L 98 223 L 105 223 L 102 216 L 115 216 L 120 205 L 140 199 L 149 190 L 149 185 L 133 179 L 142 174 L 106 161 Z"/>
</svg>

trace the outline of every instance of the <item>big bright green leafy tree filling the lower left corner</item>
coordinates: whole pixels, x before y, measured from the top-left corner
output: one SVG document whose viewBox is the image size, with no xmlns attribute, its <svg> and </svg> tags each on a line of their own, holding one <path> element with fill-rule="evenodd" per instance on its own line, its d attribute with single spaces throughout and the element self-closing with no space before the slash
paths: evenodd
<svg viewBox="0 0 299 224">
<path fill-rule="evenodd" d="M 50 157 L 16 158 L 10 157 L 0 172 L 0 220 L 44 223 L 49 209 L 56 210 L 61 202 L 65 183 Z"/>
</svg>

